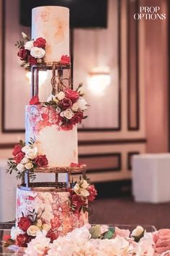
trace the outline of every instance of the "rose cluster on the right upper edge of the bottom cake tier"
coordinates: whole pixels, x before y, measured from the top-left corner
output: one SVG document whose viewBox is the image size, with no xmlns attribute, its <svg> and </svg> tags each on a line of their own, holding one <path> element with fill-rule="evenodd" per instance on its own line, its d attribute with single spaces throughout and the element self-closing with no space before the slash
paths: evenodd
<svg viewBox="0 0 170 256">
<path fill-rule="evenodd" d="M 79 214 L 82 211 L 88 211 L 87 202 L 92 202 L 97 196 L 97 190 L 94 185 L 89 185 L 89 183 L 81 179 L 76 182 L 73 188 L 70 188 L 69 203 L 73 213 Z"/>
</svg>

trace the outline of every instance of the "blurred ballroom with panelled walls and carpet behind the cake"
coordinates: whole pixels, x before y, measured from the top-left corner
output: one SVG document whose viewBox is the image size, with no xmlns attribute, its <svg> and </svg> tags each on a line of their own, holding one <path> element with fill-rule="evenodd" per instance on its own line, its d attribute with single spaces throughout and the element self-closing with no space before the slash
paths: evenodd
<svg viewBox="0 0 170 256">
<path fill-rule="evenodd" d="M 90 105 L 79 162 L 98 190 L 91 222 L 170 228 L 169 0 L 0 1 L 0 222 L 14 215 L 17 182 L 6 161 L 24 140 L 30 101 L 30 72 L 19 66 L 14 43 L 22 31 L 30 35 L 32 2 L 70 4 L 73 84 L 83 82 Z M 135 19 L 140 6 L 158 6 L 166 19 Z M 45 79 L 42 72 L 42 91 Z"/>
</svg>

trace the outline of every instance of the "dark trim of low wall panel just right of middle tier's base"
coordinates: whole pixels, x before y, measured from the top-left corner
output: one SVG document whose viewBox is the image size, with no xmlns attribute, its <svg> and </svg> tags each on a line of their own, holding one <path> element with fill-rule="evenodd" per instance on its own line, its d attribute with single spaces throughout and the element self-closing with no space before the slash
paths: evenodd
<svg viewBox="0 0 170 256">
<path fill-rule="evenodd" d="M 122 154 L 120 152 L 116 153 L 98 153 L 98 154 L 79 154 L 79 159 L 84 159 L 84 158 L 100 158 L 102 156 L 113 156 L 117 157 L 117 166 L 109 167 L 109 168 L 91 168 L 86 170 L 87 173 L 96 173 L 96 172 L 115 172 L 118 171 L 120 172 L 122 169 Z"/>
</svg>

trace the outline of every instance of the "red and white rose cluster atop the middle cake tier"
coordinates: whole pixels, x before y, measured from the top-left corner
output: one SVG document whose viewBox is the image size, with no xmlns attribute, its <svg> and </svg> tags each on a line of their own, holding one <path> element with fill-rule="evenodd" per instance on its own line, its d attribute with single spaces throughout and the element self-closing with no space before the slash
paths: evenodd
<svg viewBox="0 0 170 256">
<path fill-rule="evenodd" d="M 84 115 L 87 109 L 86 100 L 82 97 L 80 92 L 82 84 L 76 90 L 65 89 L 57 94 L 51 94 L 47 102 L 42 103 L 44 106 L 51 106 L 55 109 L 58 115 L 58 123 L 62 130 L 69 131 L 73 129 L 73 125 L 81 123 L 82 119 L 87 116 Z M 32 97 L 30 105 L 39 105 L 40 101 L 37 96 Z"/>
</svg>

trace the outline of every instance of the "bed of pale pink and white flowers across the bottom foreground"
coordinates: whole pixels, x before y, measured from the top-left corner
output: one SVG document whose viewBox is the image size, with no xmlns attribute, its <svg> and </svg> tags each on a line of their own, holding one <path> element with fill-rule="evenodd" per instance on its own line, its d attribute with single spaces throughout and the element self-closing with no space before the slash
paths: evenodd
<svg viewBox="0 0 170 256">
<path fill-rule="evenodd" d="M 47 233 L 46 233 L 47 234 Z M 37 232 L 35 239 L 28 242 L 25 256 L 169 256 L 170 229 L 153 233 L 137 226 L 132 232 L 106 225 L 85 226 L 74 229 L 66 236 L 58 237 L 53 243 L 45 231 Z M 135 240 L 135 238 L 138 238 Z"/>
</svg>

